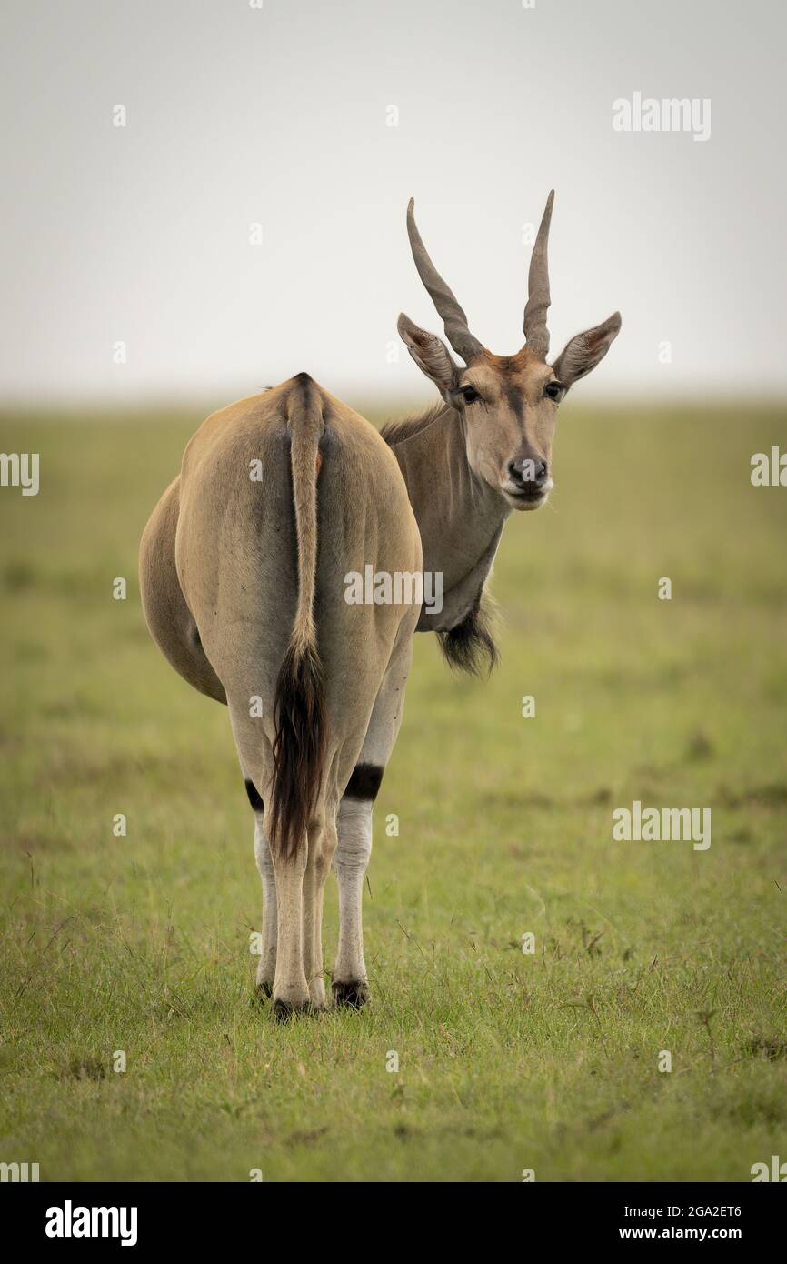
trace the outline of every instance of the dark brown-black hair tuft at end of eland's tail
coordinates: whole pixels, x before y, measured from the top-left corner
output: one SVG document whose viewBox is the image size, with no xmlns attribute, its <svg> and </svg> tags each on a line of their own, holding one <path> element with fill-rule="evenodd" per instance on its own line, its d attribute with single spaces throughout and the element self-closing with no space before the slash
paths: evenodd
<svg viewBox="0 0 787 1264">
<path fill-rule="evenodd" d="M 275 686 L 273 789 L 268 841 L 292 860 L 315 811 L 325 761 L 322 664 L 311 646 L 291 645 Z"/>
</svg>

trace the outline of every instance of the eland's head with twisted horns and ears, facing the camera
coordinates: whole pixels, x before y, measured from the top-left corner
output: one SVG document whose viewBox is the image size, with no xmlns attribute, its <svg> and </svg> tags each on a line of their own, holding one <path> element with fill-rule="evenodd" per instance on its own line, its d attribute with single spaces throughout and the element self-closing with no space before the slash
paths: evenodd
<svg viewBox="0 0 787 1264">
<path fill-rule="evenodd" d="M 547 363 L 547 244 L 553 197 L 551 192 L 533 246 L 526 341 L 515 355 L 494 355 L 470 332 L 465 312 L 421 240 L 412 200 L 407 210 L 418 274 L 442 317 L 448 343 L 465 363 L 457 364 L 442 339 L 404 313 L 399 316 L 399 334 L 418 368 L 462 417 L 467 460 L 476 477 L 517 509 L 537 509 L 547 499 L 558 404 L 568 388 L 604 359 L 620 330 L 620 313 L 614 312 L 603 325 L 572 337 L 553 364 Z"/>
</svg>

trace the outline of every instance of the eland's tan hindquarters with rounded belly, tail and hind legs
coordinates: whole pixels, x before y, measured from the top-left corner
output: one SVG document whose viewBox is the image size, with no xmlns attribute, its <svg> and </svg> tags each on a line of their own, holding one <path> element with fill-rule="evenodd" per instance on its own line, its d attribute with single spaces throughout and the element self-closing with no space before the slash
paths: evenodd
<svg viewBox="0 0 787 1264">
<path fill-rule="evenodd" d="M 345 576 L 368 564 L 421 570 L 404 479 L 376 430 L 306 373 L 208 417 L 143 536 L 154 640 L 230 709 L 258 862 L 264 880 L 273 863 L 279 897 L 279 982 L 261 982 L 285 1009 L 323 1000 L 302 904 L 321 900 L 340 800 L 419 613 L 412 595 L 349 603 Z"/>
</svg>

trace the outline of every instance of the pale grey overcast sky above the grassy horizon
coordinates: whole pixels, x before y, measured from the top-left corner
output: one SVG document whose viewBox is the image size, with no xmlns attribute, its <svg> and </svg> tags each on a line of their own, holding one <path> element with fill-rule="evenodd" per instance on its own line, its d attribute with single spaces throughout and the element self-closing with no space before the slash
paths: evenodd
<svg viewBox="0 0 787 1264">
<path fill-rule="evenodd" d="M 440 330 L 408 197 L 509 353 L 552 186 L 553 354 L 623 313 L 586 398 L 787 392 L 776 0 L 4 9 L 6 401 L 230 399 L 302 369 L 349 402 L 428 393 L 395 334 L 400 310 Z M 709 139 L 614 130 L 637 92 L 709 100 Z"/>
</svg>

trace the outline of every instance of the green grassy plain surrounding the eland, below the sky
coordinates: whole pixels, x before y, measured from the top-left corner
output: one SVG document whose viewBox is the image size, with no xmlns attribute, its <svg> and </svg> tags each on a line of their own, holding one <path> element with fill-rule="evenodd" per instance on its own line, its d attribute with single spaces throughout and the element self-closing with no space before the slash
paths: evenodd
<svg viewBox="0 0 787 1264">
<path fill-rule="evenodd" d="M 787 1158 L 787 490 L 749 482 L 787 415 L 563 406 L 552 506 L 512 518 L 493 580 L 500 669 L 461 679 L 417 642 L 375 811 L 371 1004 L 287 1025 L 253 1000 L 226 710 L 139 607 L 139 535 L 201 420 L 1 420 L 42 474 L 38 497 L 0 489 L 0 1160 L 749 1181 Z M 711 808 L 711 847 L 613 842 L 634 799 Z M 335 940 L 331 882 L 328 967 Z"/>
</svg>

